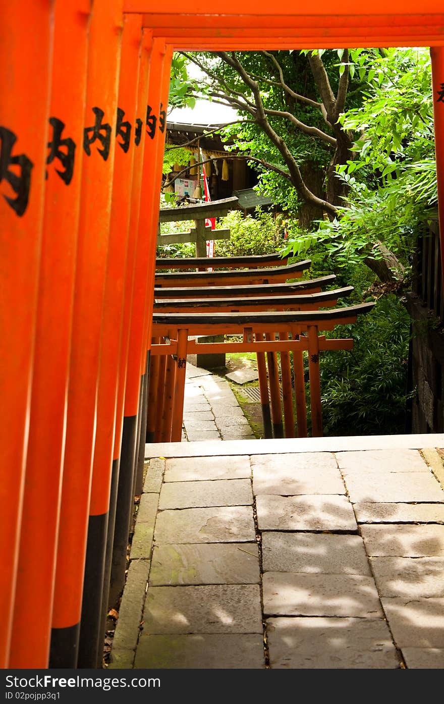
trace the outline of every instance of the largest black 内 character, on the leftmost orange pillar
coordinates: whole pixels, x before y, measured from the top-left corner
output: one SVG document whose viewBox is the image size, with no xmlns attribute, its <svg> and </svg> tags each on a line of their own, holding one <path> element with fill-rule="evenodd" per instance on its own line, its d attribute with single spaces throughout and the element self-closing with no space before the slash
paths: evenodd
<svg viewBox="0 0 444 704">
<path fill-rule="evenodd" d="M 11 156 L 13 146 L 17 141 L 16 135 L 11 130 L 7 130 L 6 127 L 0 127 L 0 139 L 0 183 L 3 180 L 7 181 L 15 194 L 17 194 L 17 198 L 4 196 L 4 199 L 15 210 L 15 213 L 21 217 L 25 213 L 30 196 L 31 170 L 34 164 L 25 154 Z M 10 165 L 18 167 L 20 172 L 17 173 L 16 168 L 11 171 Z"/>
</svg>

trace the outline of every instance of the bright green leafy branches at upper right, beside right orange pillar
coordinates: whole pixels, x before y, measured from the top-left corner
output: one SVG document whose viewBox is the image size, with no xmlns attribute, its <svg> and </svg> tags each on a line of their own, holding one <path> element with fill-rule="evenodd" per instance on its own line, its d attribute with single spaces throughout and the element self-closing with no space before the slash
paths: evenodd
<svg viewBox="0 0 444 704">
<path fill-rule="evenodd" d="M 350 52 L 353 56 L 353 51 Z M 290 232 L 288 251 L 313 249 L 335 268 L 382 258 L 382 243 L 407 268 L 424 223 L 436 217 L 436 164 L 429 52 L 388 49 L 364 56 L 367 92 L 360 108 L 340 116 L 360 132 L 355 158 L 337 168 L 348 195 L 334 220 L 316 232 Z"/>
</svg>

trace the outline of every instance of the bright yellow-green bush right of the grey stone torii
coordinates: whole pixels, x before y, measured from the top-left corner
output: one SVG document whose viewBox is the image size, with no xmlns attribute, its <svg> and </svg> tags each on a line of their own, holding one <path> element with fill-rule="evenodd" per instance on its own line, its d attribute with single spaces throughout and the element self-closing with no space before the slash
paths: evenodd
<svg viewBox="0 0 444 704">
<path fill-rule="evenodd" d="M 259 208 L 255 218 L 250 215 L 244 218 L 241 210 L 231 210 L 219 220 L 217 227 L 229 228 L 231 237 L 215 240 L 215 257 L 272 254 L 281 249 L 281 219 Z"/>
</svg>

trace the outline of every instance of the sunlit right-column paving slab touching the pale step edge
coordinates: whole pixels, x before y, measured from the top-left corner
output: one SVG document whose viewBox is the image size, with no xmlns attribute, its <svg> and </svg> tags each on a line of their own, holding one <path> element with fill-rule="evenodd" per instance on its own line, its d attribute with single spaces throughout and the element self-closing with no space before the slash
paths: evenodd
<svg viewBox="0 0 444 704">
<path fill-rule="evenodd" d="M 358 472 L 429 472 L 417 450 L 362 450 L 337 452 L 336 459 L 344 474 Z"/>
</svg>

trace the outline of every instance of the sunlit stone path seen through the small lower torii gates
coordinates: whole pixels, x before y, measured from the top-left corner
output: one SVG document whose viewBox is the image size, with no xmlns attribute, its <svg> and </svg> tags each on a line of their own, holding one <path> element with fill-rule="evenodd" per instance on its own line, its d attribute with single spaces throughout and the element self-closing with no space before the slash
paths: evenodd
<svg viewBox="0 0 444 704">
<path fill-rule="evenodd" d="M 229 383 L 206 369 L 187 364 L 182 440 L 253 438 Z"/>
</svg>

